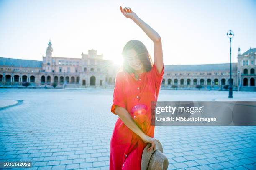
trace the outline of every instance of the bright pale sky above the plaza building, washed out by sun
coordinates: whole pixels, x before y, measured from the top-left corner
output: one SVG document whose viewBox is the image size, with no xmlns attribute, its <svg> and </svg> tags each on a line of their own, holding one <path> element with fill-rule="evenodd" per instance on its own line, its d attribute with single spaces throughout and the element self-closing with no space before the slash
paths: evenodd
<svg viewBox="0 0 256 170">
<path fill-rule="evenodd" d="M 256 0 L 0 0 L 0 57 L 42 60 L 81 58 L 97 50 L 122 62 L 129 40 L 140 40 L 154 60 L 153 42 L 120 12 L 131 9 L 161 36 L 164 65 L 230 62 L 226 35 L 234 32 L 232 62 L 256 48 Z"/>
</svg>

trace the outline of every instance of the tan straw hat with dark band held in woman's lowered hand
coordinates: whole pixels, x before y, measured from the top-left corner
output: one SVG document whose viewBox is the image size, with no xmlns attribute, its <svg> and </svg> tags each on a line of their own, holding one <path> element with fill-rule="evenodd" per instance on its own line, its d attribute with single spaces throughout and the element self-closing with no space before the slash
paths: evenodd
<svg viewBox="0 0 256 170">
<path fill-rule="evenodd" d="M 141 170 L 167 170 L 169 162 L 163 154 L 163 147 L 157 139 L 155 139 L 155 144 L 155 150 L 147 151 L 151 147 L 151 143 L 144 148 L 141 158 Z"/>
</svg>

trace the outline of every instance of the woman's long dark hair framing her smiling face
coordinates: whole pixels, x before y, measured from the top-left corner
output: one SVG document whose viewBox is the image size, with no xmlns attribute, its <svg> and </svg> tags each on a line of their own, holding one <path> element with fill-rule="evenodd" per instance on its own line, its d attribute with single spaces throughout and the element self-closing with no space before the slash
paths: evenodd
<svg viewBox="0 0 256 170">
<path fill-rule="evenodd" d="M 151 56 L 148 53 L 148 50 L 146 48 L 146 46 L 139 40 L 130 40 L 126 43 L 126 45 L 123 47 L 123 65 L 122 65 L 122 70 L 128 73 L 134 73 L 134 69 L 132 67 L 130 67 L 130 65 L 127 62 L 127 50 L 135 50 L 137 55 L 138 55 L 138 59 L 141 61 L 141 63 L 143 64 L 143 67 L 145 68 L 145 70 L 148 72 L 152 69 L 153 67 L 153 62 L 151 59 Z"/>
</svg>

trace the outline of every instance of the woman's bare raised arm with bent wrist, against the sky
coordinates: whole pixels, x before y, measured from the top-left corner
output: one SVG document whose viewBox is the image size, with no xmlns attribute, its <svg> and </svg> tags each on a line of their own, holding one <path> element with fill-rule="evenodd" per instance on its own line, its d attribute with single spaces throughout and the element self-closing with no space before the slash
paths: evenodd
<svg viewBox="0 0 256 170">
<path fill-rule="evenodd" d="M 139 18 L 136 13 L 134 13 L 130 8 L 124 8 L 120 6 L 120 10 L 123 15 L 127 18 L 131 18 L 154 43 L 154 62 L 156 64 L 156 68 L 161 73 L 164 67 L 164 60 L 163 60 L 163 49 L 162 49 L 162 42 L 160 35 L 153 30 L 148 24 L 146 24 L 141 18 Z"/>
</svg>

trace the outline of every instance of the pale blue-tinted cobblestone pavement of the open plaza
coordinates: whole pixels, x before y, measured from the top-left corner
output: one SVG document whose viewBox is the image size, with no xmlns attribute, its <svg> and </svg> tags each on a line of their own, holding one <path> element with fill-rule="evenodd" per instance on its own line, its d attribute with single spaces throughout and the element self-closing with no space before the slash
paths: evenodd
<svg viewBox="0 0 256 170">
<path fill-rule="evenodd" d="M 256 97 L 256 92 L 234 92 Z M 214 100 L 223 91 L 160 90 L 159 100 Z M 113 90 L 0 89 L 0 160 L 29 170 L 108 170 Z M 156 126 L 169 170 L 256 170 L 256 126 Z M 16 168 L 15 170 L 17 170 Z"/>
</svg>

